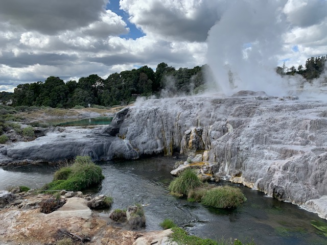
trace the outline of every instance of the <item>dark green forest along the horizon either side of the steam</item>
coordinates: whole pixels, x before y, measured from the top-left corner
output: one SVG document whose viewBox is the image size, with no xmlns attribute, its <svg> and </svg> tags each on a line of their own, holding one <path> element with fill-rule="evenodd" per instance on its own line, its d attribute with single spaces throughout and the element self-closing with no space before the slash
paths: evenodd
<svg viewBox="0 0 327 245">
<path fill-rule="evenodd" d="M 312 57 L 305 66 L 288 68 L 278 66 L 276 72 L 281 76 L 299 74 L 308 82 L 318 78 L 325 67 L 326 56 Z M 44 82 L 20 84 L 14 93 L 1 92 L 0 101 L 4 104 L 12 100 L 13 106 L 49 106 L 73 108 L 75 106 L 114 106 L 126 105 L 135 101 L 136 96 L 159 95 L 163 89 L 173 94 L 195 94 L 205 88 L 207 65 L 192 69 L 176 70 L 166 63 L 157 65 L 155 72 L 148 66 L 111 74 L 107 79 L 98 75 L 80 78 L 79 81 L 64 82 L 58 77 L 49 77 Z M 327 81 L 326 81 L 327 82 Z"/>
</svg>

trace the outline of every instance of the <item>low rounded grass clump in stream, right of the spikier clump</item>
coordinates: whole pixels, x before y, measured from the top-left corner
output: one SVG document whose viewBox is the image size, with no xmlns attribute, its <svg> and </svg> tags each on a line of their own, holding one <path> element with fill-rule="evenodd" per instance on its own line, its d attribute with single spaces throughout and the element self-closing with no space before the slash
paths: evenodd
<svg viewBox="0 0 327 245">
<path fill-rule="evenodd" d="M 202 204 L 216 208 L 236 208 L 246 201 L 240 188 L 218 186 L 205 192 Z"/>
</svg>

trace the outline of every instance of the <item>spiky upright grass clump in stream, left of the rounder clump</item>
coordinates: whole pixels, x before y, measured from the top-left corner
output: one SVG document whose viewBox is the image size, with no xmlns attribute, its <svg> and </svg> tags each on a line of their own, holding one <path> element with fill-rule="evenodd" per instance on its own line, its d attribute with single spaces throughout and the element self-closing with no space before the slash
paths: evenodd
<svg viewBox="0 0 327 245">
<path fill-rule="evenodd" d="M 170 185 L 171 192 L 187 195 L 190 190 L 201 186 L 203 183 L 191 168 L 186 168 L 183 173 L 174 179 Z"/>
</svg>

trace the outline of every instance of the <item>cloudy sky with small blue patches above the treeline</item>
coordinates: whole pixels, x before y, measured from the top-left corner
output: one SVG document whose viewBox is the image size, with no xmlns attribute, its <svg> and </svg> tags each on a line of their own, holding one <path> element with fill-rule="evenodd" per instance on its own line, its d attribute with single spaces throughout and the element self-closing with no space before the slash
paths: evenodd
<svg viewBox="0 0 327 245">
<path fill-rule="evenodd" d="M 326 54 L 327 0 L 0 1 L 0 91 L 161 62 L 237 83 Z"/>
</svg>

